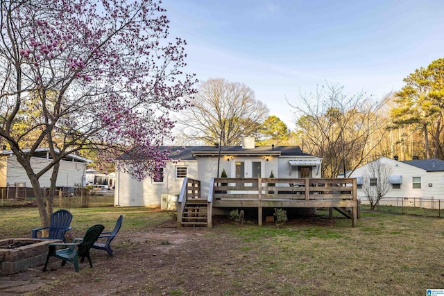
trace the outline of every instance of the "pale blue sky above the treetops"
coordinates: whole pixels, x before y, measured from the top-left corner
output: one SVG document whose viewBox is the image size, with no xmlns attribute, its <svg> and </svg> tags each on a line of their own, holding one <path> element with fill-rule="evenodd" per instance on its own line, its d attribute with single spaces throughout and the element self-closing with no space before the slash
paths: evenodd
<svg viewBox="0 0 444 296">
<path fill-rule="evenodd" d="M 163 0 L 170 37 L 187 41 L 185 72 L 253 89 L 290 129 L 289 103 L 316 87 L 380 100 L 444 58 L 443 0 Z"/>
</svg>

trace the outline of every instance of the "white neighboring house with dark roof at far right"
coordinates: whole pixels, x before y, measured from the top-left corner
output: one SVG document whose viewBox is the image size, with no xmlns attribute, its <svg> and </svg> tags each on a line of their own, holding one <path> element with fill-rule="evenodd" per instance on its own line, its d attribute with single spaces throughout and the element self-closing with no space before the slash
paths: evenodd
<svg viewBox="0 0 444 296">
<path fill-rule="evenodd" d="M 384 198 L 444 198 L 444 161 L 441 159 L 413 159 L 398 161 L 387 157 L 380 161 L 391 167 L 388 182 L 391 190 Z M 362 191 L 368 164 L 357 168 L 348 177 L 357 178 L 358 198 L 365 198 Z M 370 180 L 377 182 L 377 180 Z"/>
</svg>

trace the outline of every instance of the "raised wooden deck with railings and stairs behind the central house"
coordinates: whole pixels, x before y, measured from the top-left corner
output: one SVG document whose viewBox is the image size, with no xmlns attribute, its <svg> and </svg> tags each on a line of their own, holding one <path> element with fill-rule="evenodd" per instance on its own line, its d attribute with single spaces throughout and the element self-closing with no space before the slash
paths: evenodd
<svg viewBox="0 0 444 296">
<path fill-rule="evenodd" d="M 178 225 L 186 225 L 188 219 L 191 225 L 200 223 L 211 227 L 214 208 L 257 208 L 259 225 L 262 225 L 264 208 L 328 208 L 330 216 L 336 209 L 356 227 L 356 192 L 355 178 L 212 178 L 208 194 L 203 196 L 200 181 L 185 178 L 178 199 Z M 206 209 L 199 216 L 192 204 Z"/>
</svg>

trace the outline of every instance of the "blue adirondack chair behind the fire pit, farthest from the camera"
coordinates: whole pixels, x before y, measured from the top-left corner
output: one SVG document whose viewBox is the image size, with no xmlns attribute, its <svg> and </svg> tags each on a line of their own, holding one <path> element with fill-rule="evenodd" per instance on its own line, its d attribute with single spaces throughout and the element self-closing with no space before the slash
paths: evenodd
<svg viewBox="0 0 444 296">
<path fill-rule="evenodd" d="M 60 239 L 65 243 L 65 232 L 71 227 L 72 214 L 66 209 L 60 209 L 53 212 L 51 215 L 51 222 L 48 227 L 40 227 L 31 230 L 32 238 L 41 239 Z M 48 236 L 42 236 L 42 230 L 49 229 Z M 40 236 L 39 236 L 40 235 Z"/>
</svg>

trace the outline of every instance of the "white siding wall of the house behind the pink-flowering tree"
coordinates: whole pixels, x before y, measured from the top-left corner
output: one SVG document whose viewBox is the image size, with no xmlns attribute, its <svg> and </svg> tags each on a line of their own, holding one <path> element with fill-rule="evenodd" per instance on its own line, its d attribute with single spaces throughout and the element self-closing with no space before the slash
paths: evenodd
<svg viewBox="0 0 444 296">
<path fill-rule="evenodd" d="M 51 162 L 50 159 L 32 157 L 31 158 L 31 166 L 37 172 L 44 168 Z M 56 186 L 74 186 L 76 184 L 82 184 L 83 178 L 85 176 L 86 164 L 81 162 L 69 162 L 69 161 L 60 161 L 60 168 L 58 172 L 58 178 Z M 40 177 L 40 186 L 41 187 L 49 187 L 50 178 L 53 169 L 51 168 L 49 171 L 44 173 L 42 177 Z M 31 181 L 29 181 L 28 176 L 24 168 L 17 162 L 15 156 L 8 157 L 8 172 L 6 182 L 9 184 L 14 184 L 15 182 L 26 182 L 27 187 L 31 187 Z"/>
</svg>

